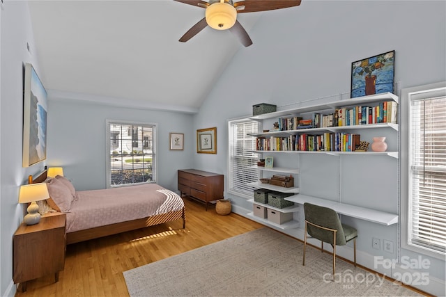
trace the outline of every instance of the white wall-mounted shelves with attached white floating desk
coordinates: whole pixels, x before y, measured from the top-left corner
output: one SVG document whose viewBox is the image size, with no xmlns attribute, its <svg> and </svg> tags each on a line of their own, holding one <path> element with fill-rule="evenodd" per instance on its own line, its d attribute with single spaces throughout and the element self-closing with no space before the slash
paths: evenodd
<svg viewBox="0 0 446 297">
<path fill-rule="evenodd" d="M 378 95 L 369 95 L 364 97 L 358 97 L 353 99 L 344 99 L 339 100 L 336 102 L 331 103 L 325 103 L 325 104 L 316 104 L 312 106 L 305 106 L 300 107 L 296 109 L 289 109 L 286 111 L 276 111 L 274 113 L 265 113 L 262 115 L 255 115 L 251 117 L 252 120 L 267 120 L 272 118 L 282 118 L 282 117 L 288 117 L 288 116 L 295 116 L 295 115 L 302 115 L 304 113 L 314 113 L 314 112 L 321 112 L 324 111 L 332 111 L 333 109 L 347 107 L 347 106 L 357 106 L 357 105 L 368 105 L 378 102 L 384 102 L 384 101 L 394 101 L 398 103 L 398 97 L 392 93 L 382 93 Z M 339 131 L 350 131 L 350 130 L 359 130 L 359 129 L 393 129 L 394 131 L 399 131 L 399 125 L 393 124 L 393 123 L 380 123 L 380 124 L 371 124 L 371 125 L 354 125 L 354 126 L 341 126 L 341 127 L 323 127 L 323 128 L 309 128 L 309 129 L 298 129 L 298 130 L 286 130 L 286 131 L 270 131 L 270 132 L 263 132 L 259 134 L 249 134 L 251 136 L 255 137 L 268 137 L 268 136 L 275 136 L 275 137 L 286 137 L 290 135 L 298 135 L 303 133 L 314 133 L 317 134 L 319 132 L 339 132 Z M 362 155 L 369 155 L 369 156 L 390 156 L 393 158 L 398 159 L 399 158 L 399 152 L 336 152 L 336 151 L 277 151 L 277 150 L 256 150 L 254 151 L 259 154 L 329 154 L 333 156 L 340 156 L 340 155 L 353 155 L 353 154 L 362 154 Z M 299 174 L 298 168 L 262 168 L 257 167 L 259 170 L 266 170 L 266 171 L 272 171 L 272 172 L 284 172 L 287 174 Z M 284 188 L 282 186 L 272 186 L 270 184 L 262 184 L 261 182 L 254 182 L 249 183 L 251 186 L 256 186 L 257 188 L 266 188 L 268 190 L 272 191 L 279 191 L 282 193 L 299 193 L 299 188 Z M 324 207 L 330 207 L 331 209 L 334 209 L 334 211 L 337 211 L 337 213 L 345 215 L 345 216 L 351 216 L 353 218 L 359 218 L 361 220 L 368 220 L 373 223 L 378 223 L 382 225 L 393 225 L 398 223 L 399 216 L 397 214 L 390 214 L 385 211 L 378 211 L 375 209 L 368 209 L 366 207 L 358 207 L 351 204 L 345 204 L 337 201 L 332 200 L 326 200 L 323 198 L 316 198 L 309 195 L 301 195 L 296 194 L 292 195 L 290 197 L 284 198 L 285 200 L 289 200 L 291 202 L 295 202 L 296 204 L 304 204 L 305 202 L 309 202 L 312 204 L 318 204 Z M 255 202 L 253 200 L 249 200 L 253 204 L 259 204 L 263 207 L 270 207 L 268 204 L 261 204 L 259 202 Z M 295 212 L 298 211 L 299 207 L 295 205 L 294 207 L 289 207 L 287 209 L 275 209 L 277 211 L 289 211 L 289 212 Z M 279 227 L 282 229 L 289 229 L 298 227 L 298 222 L 295 220 L 291 220 L 290 222 L 287 222 L 282 225 L 277 225 L 275 223 L 272 223 L 268 221 L 267 219 L 259 218 L 254 216 L 253 213 L 249 213 L 248 216 L 252 216 L 256 218 L 256 220 L 260 221 L 261 223 L 265 223 L 266 225 L 272 225 L 275 227 Z"/>
</svg>

